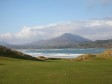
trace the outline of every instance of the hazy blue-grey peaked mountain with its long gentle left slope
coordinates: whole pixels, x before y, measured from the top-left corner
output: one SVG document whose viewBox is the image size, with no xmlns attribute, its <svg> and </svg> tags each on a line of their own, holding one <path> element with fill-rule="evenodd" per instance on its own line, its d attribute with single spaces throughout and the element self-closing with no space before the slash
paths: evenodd
<svg viewBox="0 0 112 84">
<path fill-rule="evenodd" d="M 69 48 L 79 43 L 91 42 L 84 37 L 65 33 L 59 37 L 49 40 L 41 40 L 25 45 L 21 45 L 23 48 Z M 20 46 L 19 46 L 20 47 Z"/>
</svg>

